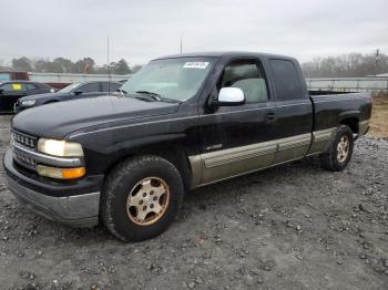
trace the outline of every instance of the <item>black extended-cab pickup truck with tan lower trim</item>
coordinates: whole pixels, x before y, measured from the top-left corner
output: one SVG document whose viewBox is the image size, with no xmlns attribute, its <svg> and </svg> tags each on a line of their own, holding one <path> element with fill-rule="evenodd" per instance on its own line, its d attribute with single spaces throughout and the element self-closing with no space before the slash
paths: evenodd
<svg viewBox="0 0 388 290">
<path fill-rule="evenodd" d="M 21 112 L 4 168 L 38 213 L 144 240 L 192 188 L 310 155 L 343 170 L 370 113 L 366 93 L 309 93 L 293 58 L 178 54 L 112 95 Z"/>
</svg>

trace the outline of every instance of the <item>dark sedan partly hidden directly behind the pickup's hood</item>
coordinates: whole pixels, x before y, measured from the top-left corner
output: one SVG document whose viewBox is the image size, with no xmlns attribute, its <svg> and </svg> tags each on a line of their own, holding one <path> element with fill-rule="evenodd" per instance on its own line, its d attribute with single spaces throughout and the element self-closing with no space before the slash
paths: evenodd
<svg viewBox="0 0 388 290">
<path fill-rule="evenodd" d="M 21 97 L 14 105 L 14 113 L 50 103 L 101 96 L 104 95 L 104 93 L 108 94 L 109 92 L 115 92 L 121 85 L 122 84 L 118 82 L 85 82 L 70 84 L 54 93 Z"/>
</svg>

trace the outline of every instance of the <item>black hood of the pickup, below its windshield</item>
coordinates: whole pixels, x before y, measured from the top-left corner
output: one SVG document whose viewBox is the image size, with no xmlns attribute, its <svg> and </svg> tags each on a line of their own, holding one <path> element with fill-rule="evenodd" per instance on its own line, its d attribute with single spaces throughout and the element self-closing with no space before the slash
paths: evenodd
<svg viewBox="0 0 388 290">
<path fill-rule="evenodd" d="M 71 132 L 90 126 L 172 114 L 178 105 L 115 95 L 81 99 L 22 111 L 13 117 L 12 127 L 39 137 L 61 139 Z"/>
</svg>

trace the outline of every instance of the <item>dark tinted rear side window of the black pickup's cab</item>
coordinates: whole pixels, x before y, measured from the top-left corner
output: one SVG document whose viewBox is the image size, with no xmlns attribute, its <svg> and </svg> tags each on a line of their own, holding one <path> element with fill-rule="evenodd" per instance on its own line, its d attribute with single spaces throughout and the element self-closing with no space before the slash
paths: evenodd
<svg viewBox="0 0 388 290">
<path fill-rule="evenodd" d="M 269 62 L 278 100 L 304 99 L 300 80 L 294 63 L 287 60 L 270 60 Z"/>
</svg>

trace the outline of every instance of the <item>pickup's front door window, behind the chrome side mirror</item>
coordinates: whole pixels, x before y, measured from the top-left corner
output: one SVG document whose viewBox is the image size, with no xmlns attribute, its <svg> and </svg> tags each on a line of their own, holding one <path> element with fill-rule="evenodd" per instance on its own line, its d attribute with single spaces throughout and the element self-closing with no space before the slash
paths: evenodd
<svg viewBox="0 0 388 290">
<path fill-rule="evenodd" d="M 246 103 L 261 103 L 268 100 L 267 84 L 256 60 L 229 62 L 221 79 L 219 89 L 238 87 L 244 92 Z"/>
</svg>

